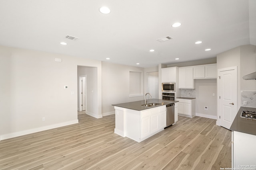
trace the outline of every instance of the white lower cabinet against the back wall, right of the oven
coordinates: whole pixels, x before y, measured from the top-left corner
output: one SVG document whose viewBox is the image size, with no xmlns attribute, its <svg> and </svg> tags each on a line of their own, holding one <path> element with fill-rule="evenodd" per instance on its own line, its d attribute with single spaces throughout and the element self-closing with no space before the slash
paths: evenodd
<svg viewBox="0 0 256 170">
<path fill-rule="evenodd" d="M 178 115 L 186 117 L 194 117 L 196 115 L 195 99 L 179 99 L 178 100 Z"/>
</svg>

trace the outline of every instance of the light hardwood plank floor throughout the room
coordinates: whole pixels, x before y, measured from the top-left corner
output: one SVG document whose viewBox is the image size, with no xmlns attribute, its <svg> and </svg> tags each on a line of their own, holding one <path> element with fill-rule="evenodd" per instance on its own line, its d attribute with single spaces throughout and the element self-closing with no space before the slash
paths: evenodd
<svg viewBox="0 0 256 170">
<path fill-rule="evenodd" d="M 176 125 L 137 143 L 114 133 L 115 115 L 0 142 L 1 170 L 220 170 L 231 168 L 231 131 L 204 117 L 179 116 Z"/>
</svg>

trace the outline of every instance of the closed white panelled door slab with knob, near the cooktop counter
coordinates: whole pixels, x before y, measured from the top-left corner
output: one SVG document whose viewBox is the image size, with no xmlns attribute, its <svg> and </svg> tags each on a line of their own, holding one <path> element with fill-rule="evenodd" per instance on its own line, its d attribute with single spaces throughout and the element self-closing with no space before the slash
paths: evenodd
<svg viewBox="0 0 256 170">
<path fill-rule="evenodd" d="M 227 129 L 237 113 L 237 69 L 226 69 L 219 72 L 220 125 Z"/>
</svg>

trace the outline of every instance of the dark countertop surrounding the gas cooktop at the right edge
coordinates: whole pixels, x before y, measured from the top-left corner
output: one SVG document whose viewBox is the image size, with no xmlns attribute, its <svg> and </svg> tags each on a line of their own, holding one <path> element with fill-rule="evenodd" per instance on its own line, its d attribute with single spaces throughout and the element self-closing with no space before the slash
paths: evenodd
<svg viewBox="0 0 256 170">
<path fill-rule="evenodd" d="M 247 119 L 240 117 L 242 111 L 256 111 L 256 108 L 240 107 L 230 127 L 230 130 L 256 135 L 256 119 Z"/>
</svg>

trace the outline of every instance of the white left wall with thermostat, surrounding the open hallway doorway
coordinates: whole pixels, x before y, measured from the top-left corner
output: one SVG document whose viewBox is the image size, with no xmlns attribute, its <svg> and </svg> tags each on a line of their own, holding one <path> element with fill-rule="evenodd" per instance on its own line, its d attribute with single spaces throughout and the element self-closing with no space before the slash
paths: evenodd
<svg viewBox="0 0 256 170">
<path fill-rule="evenodd" d="M 78 123 L 77 65 L 97 67 L 101 115 L 101 61 L 4 46 L 0 61 L 0 139 Z"/>
</svg>

